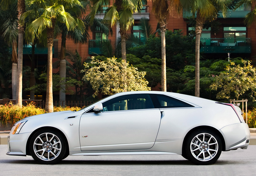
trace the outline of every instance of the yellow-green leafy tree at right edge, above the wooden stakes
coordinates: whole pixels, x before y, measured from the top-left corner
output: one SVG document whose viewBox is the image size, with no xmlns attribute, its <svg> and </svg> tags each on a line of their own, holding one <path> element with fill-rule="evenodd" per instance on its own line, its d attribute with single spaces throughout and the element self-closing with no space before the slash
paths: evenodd
<svg viewBox="0 0 256 176">
<path fill-rule="evenodd" d="M 229 99 L 230 94 L 235 94 L 236 100 L 246 91 L 251 91 L 251 97 L 255 101 L 256 96 L 256 68 L 251 65 L 250 61 L 241 60 L 244 66 L 235 65 L 234 62 L 225 68 L 219 76 L 215 76 L 215 82 L 211 84 L 212 90 L 220 88 L 217 93 L 218 99 Z"/>
</svg>

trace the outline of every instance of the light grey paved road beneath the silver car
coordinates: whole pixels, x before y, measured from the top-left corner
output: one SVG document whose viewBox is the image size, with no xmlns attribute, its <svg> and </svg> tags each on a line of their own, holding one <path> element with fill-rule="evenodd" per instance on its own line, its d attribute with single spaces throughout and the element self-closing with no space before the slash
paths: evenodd
<svg viewBox="0 0 256 176">
<path fill-rule="evenodd" d="M 0 175 L 256 175 L 256 145 L 222 152 L 213 165 L 198 166 L 180 155 L 68 156 L 56 165 L 37 164 L 31 156 L 8 156 L 0 145 Z"/>
</svg>

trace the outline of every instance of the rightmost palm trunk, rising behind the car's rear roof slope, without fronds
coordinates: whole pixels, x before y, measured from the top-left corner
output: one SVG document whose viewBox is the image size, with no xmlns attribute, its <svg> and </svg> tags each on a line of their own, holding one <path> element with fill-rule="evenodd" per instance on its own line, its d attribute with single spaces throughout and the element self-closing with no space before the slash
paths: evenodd
<svg viewBox="0 0 256 176">
<path fill-rule="evenodd" d="M 196 17 L 196 78 L 195 78 L 195 96 L 200 96 L 200 76 L 199 76 L 199 68 L 200 68 L 200 37 L 202 34 L 204 25 L 204 20 L 201 18 L 200 13 L 197 12 Z"/>
</svg>

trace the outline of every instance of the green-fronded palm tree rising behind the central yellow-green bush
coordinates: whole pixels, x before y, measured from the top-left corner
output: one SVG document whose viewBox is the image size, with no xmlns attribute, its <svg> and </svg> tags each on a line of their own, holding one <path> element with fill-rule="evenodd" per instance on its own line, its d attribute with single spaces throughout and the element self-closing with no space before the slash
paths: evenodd
<svg viewBox="0 0 256 176">
<path fill-rule="evenodd" d="M 116 24 L 120 27 L 121 46 L 122 46 L 122 60 L 126 62 L 126 33 L 128 29 L 134 24 L 133 13 L 137 13 L 142 8 L 143 0 L 114 0 L 113 4 L 110 4 L 109 0 L 93 0 L 92 9 L 90 12 L 91 23 L 97 14 L 102 11 L 103 6 L 109 6 L 105 12 L 103 22 L 114 26 Z"/>
</svg>

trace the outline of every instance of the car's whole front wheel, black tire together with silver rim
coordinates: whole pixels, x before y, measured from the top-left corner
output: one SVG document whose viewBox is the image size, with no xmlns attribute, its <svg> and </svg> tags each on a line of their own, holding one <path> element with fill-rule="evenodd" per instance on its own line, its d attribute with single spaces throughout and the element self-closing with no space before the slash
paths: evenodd
<svg viewBox="0 0 256 176">
<path fill-rule="evenodd" d="M 51 129 L 39 130 L 29 142 L 31 156 L 40 164 L 58 163 L 66 156 L 66 150 L 67 143 L 63 135 Z"/>
</svg>

